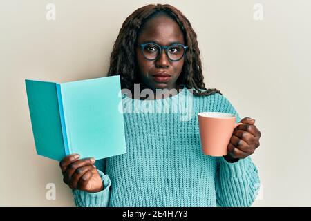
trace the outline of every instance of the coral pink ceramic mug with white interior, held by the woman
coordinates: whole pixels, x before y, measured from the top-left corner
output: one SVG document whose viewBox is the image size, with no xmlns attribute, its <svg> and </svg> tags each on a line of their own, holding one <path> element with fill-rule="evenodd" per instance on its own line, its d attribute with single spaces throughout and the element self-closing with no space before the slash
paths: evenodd
<svg viewBox="0 0 311 221">
<path fill-rule="evenodd" d="M 220 157 L 227 155 L 227 146 L 236 123 L 236 116 L 231 113 L 201 112 L 198 113 L 200 140 L 205 155 Z"/>
</svg>

